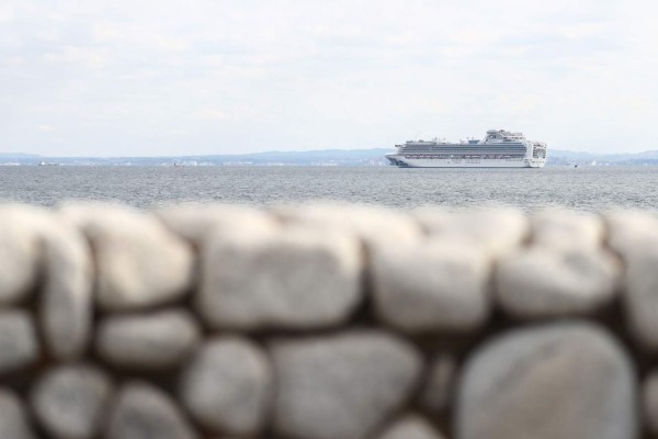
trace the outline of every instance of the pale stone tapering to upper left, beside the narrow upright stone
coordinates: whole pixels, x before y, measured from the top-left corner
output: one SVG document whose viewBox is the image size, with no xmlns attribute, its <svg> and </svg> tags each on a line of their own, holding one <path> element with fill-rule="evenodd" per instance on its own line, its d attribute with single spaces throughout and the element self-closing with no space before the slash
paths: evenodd
<svg viewBox="0 0 658 439">
<path fill-rule="evenodd" d="M 190 290 L 192 248 L 155 216 L 107 205 L 69 205 L 61 213 L 93 246 L 101 309 L 149 308 L 181 300 Z"/>
</svg>

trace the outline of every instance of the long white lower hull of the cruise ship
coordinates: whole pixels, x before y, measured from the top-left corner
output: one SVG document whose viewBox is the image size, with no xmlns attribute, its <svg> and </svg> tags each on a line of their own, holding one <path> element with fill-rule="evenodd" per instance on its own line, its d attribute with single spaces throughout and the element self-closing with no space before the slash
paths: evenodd
<svg viewBox="0 0 658 439">
<path fill-rule="evenodd" d="M 402 155 L 386 155 L 388 161 L 399 168 L 543 168 L 546 159 L 438 159 L 407 158 Z"/>
</svg>

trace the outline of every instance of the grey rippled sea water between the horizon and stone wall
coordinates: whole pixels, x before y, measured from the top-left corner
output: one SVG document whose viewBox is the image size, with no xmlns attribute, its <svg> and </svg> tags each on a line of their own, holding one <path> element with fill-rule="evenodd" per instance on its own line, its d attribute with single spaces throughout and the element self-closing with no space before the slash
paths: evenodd
<svg viewBox="0 0 658 439">
<path fill-rule="evenodd" d="M 398 169 L 393 167 L 3 167 L 0 202 L 272 204 L 313 200 L 416 207 L 509 204 L 524 210 L 658 211 L 658 168 Z"/>
</svg>

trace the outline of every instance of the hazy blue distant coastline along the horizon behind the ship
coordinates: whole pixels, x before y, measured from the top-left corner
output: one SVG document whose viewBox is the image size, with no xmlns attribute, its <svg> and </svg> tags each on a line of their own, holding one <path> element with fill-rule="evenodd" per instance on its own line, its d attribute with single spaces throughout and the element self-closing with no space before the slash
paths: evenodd
<svg viewBox="0 0 658 439">
<path fill-rule="evenodd" d="M 268 151 L 173 157 L 48 157 L 0 153 L 0 166 L 388 166 L 392 148 Z M 551 149 L 546 166 L 658 166 L 658 150 L 593 154 Z"/>
</svg>

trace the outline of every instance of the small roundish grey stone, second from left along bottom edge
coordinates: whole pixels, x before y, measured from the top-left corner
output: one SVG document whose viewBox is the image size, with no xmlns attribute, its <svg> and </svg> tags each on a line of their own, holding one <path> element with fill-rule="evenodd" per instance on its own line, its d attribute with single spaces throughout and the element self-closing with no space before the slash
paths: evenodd
<svg viewBox="0 0 658 439">
<path fill-rule="evenodd" d="M 48 371 L 32 391 L 36 418 L 54 438 L 97 437 L 109 408 L 112 385 L 100 370 L 64 365 Z"/>
</svg>

